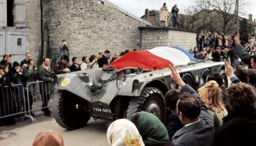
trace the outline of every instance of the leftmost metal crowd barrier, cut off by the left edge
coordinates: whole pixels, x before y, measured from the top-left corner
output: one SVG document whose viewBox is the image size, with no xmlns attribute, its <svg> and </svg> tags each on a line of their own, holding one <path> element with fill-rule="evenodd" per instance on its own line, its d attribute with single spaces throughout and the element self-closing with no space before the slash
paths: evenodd
<svg viewBox="0 0 256 146">
<path fill-rule="evenodd" d="M 31 120 L 33 119 L 27 112 L 23 85 L 1 86 L 0 94 L 0 120 L 20 116 L 21 114 Z"/>
</svg>

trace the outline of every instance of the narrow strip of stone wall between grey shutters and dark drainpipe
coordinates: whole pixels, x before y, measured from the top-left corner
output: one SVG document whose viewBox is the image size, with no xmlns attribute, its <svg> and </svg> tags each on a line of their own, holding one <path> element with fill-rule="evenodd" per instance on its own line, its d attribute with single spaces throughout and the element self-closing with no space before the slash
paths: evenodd
<svg viewBox="0 0 256 146">
<path fill-rule="evenodd" d="M 39 59 L 41 50 L 41 21 L 40 21 L 40 1 L 29 0 L 26 2 L 26 26 L 29 27 L 29 44 L 27 52 L 32 54 L 35 64 Z"/>
</svg>

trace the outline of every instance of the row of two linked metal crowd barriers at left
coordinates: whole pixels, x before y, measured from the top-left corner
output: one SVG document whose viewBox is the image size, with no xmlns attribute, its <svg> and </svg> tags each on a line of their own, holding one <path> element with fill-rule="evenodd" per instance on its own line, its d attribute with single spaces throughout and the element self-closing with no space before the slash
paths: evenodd
<svg viewBox="0 0 256 146">
<path fill-rule="evenodd" d="M 45 111 L 51 108 L 51 94 L 54 93 L 54 85 L 50 82 L 30 82 L 24 88 L 23 85 L 0 86 L 0 121 L 8 117 L 24 115 L 36 122 L 33 111 Z"/>
</svg>

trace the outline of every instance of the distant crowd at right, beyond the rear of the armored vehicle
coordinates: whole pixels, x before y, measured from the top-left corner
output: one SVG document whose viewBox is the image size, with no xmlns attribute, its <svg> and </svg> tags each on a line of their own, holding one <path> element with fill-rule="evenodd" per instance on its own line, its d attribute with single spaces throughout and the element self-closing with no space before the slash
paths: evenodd
<svg viewBox="0 0 256 146">
<path fill-rule="evenodd" d="M 235 38 L 238 38 L 239 34 L 227 33 L 216 33 L 203 30 L 197 33 L 197 46 L 194 50 L 190 50 L 190 53 L 199 60 L 213 60 L 213 61 L 224 61 L 228 57 L 232 61 L 232 66 L 238 64 L 239 57 L 234 53 L 236 42 Z M 246 52 L 255 54 L 256 43 L 255 36 L 251 36 L 247 43 L 243 45 Z"/>
</svg>

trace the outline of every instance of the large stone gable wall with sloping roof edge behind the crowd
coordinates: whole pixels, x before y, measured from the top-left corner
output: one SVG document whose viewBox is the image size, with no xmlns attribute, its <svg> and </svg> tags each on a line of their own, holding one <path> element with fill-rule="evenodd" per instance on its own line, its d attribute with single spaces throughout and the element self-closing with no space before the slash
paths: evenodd
<svg viewBox="0 0 256 146">
<path fill-rule="evenodd" d="M 116 53 L 141 48 L 138 27 L 146 24 L 102 1 L 47 0 L 44 10 L 51 55 L 58 54 L 62 39 L 68 42 L 70 58 L 81 59 L 105 49 Z"/>
</svg>

